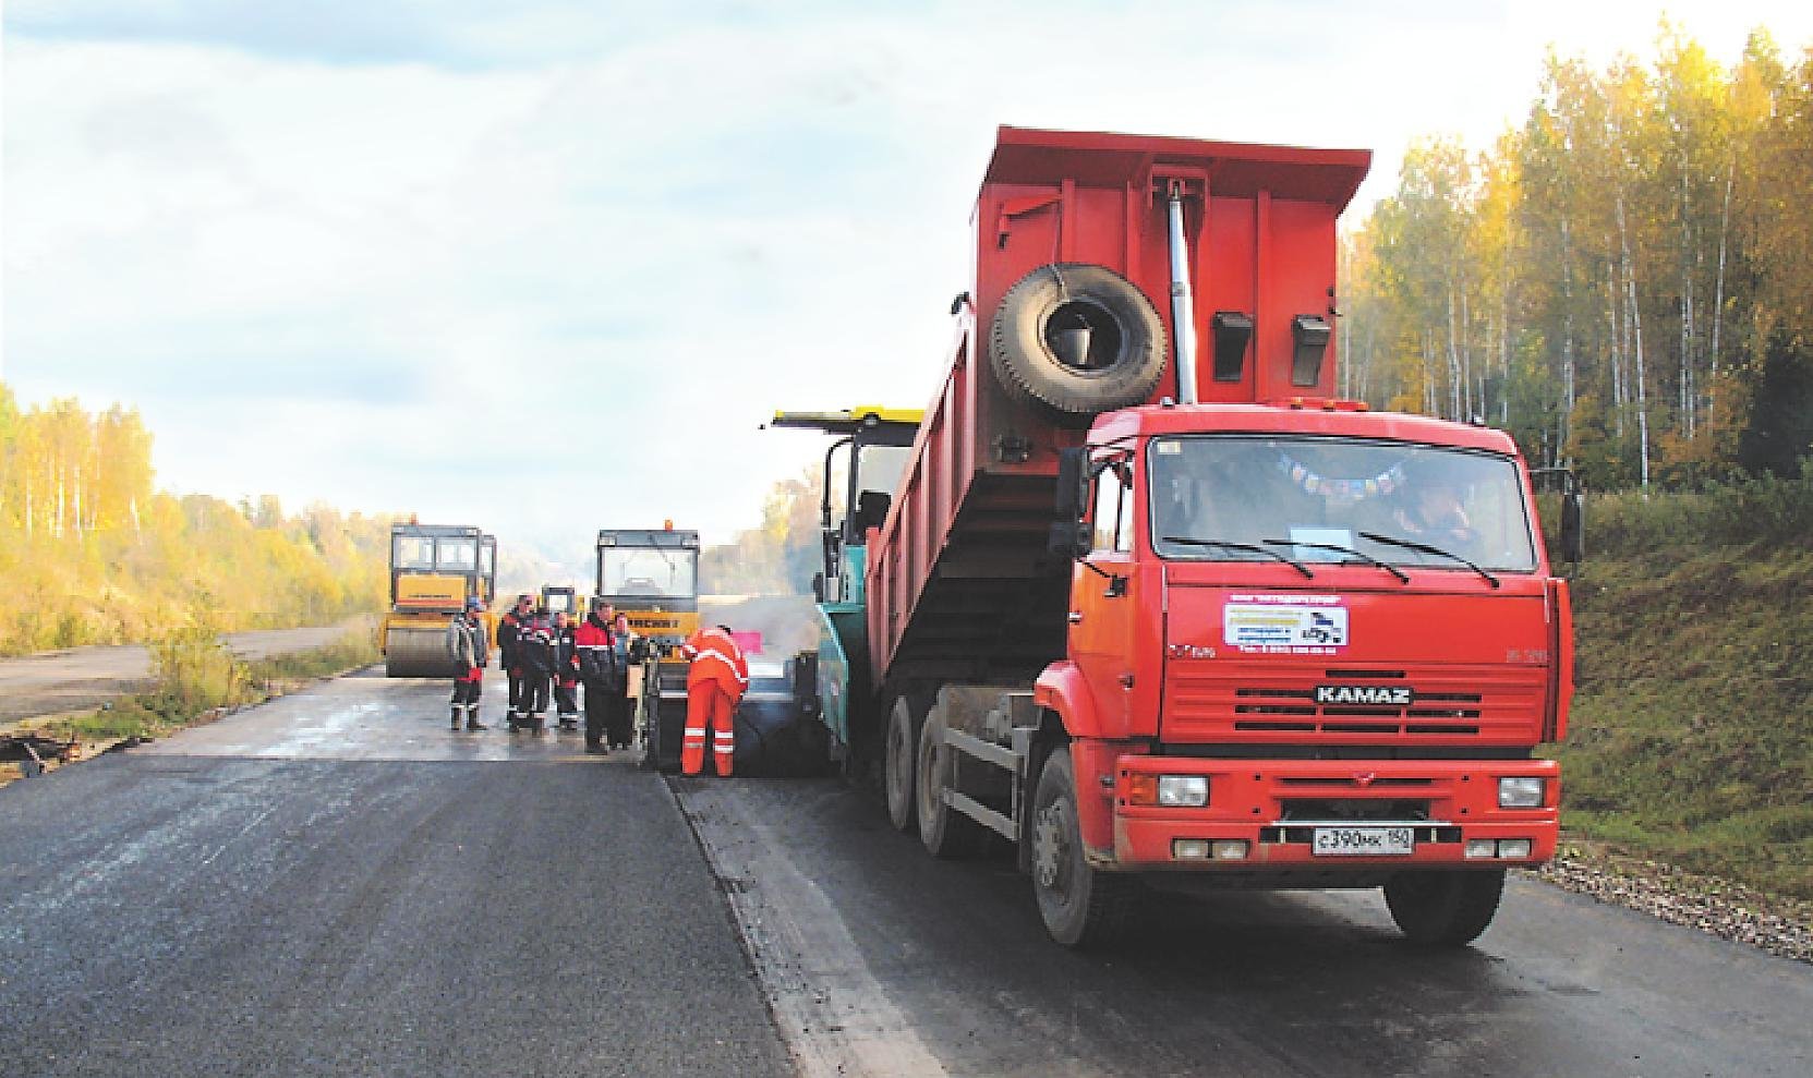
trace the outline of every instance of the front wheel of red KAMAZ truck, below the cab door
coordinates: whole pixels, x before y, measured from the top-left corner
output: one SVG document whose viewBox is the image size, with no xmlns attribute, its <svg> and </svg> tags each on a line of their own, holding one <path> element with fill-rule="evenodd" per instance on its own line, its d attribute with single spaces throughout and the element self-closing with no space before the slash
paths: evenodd
<svg viewBox="0 0 1813 1078">
<path fill-rule="evenodd" d="M 1044 929 L 1066 948 L 1113 942 L 1126 931 L 1137 888 L 1139 881 L 1084 861 L 1070 748 L 1052 750 L 1032 799 L 1032 890 Z"/>
</svg>

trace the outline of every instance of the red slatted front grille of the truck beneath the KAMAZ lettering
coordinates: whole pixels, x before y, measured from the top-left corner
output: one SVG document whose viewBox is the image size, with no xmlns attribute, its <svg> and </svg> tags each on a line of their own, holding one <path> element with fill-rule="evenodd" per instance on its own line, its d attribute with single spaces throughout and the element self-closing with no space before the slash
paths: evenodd
<svg viewBox="0 0 1813 1078">
<path fill-rule="evenodd" d="M 1244 661 L 1171 663 L 1166 739 L 1227 734 L 1255 739 L 1485 737 L 1528 743 L 1541 730 L 1545 670 L 1440 667 L 1331 669 Z M 1411 688 L 1407 705 L 1322 703 L 1316 687 Z M 1198 737 L 1198 734 L 1202 737 Z"/>
</svg>

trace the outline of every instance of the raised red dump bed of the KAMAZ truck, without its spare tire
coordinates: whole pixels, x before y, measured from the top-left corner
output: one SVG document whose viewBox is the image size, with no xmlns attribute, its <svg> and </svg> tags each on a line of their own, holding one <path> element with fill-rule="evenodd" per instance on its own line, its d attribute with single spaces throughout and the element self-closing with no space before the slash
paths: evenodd
<svg viewBox="0 0 1813 1078">
<path fill-rule="evenodd" d="M 1155 183 L 1175 178 L 1198 194 L 1188 216 L 1191 250 L 1202 252 L 1193 266 L 1198 337 L 1209 339 L 1217 310 L 1246 312 L 1255 324 L 1255 355 L 1240 377 L 1217 380 L 1206 364 L 1195 397 L 1331 397 L 1333 362 L 1314 384 L 1291 384 L 1289 319 L 1333 308 L 1334 221 L 1369 163 L 1367 150 L 1001 129 L 975 203 L 975 284 L 957 312 L 950 370 L 870 551 L 876 670 L 1017 676 L 1062 649 L 1062 621 L 1052 618 L 1062 614 L 1062 594 L 1035 582 L 1033 563 L 1050 529 L 1057 449 L 1081 444 L 1082 431 L 1001 386 L 975 312 L 986 321 L 1015 281 L 1053 261 L 1102 265 L 1164 297 L 1166 219 Z M 1175 339 L 1169 310 L 1160 315 Z M 1182 397 L 1175 366 L 1151 393 L 1160 397 Z M 1026 616 L 979 625 L 979 607 Z"/>
</svg>

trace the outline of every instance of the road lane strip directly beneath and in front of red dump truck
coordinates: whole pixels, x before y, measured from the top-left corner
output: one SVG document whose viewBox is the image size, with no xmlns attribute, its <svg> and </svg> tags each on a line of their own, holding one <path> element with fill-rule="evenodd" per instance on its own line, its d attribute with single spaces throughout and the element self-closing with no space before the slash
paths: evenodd
<svg viewBox="0 0 1813 1078">
<path fill-rule="evenodd" d="M 805 1074 L 1813 1074 L 1813 967 L 1534 881 L 1459 951 L 1371 891 L 1164 897 L 1079 955 L 836 781 L 674 788 Z"/>
</svg>

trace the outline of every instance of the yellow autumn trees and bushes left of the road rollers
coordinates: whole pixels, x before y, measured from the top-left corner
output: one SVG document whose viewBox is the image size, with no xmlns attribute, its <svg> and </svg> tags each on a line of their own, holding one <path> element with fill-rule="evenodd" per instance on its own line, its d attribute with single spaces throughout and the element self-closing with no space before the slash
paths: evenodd
<svg viewBox="0 0 1813 1078">
<path fill-rule="evenodd" d="M 152 487 L 138 411 L 22 409 L 0 382 L 0 654 L 223 629 L 321 625 L 386 602 L 390 520 L 286 515 Z"/>
</svg>

